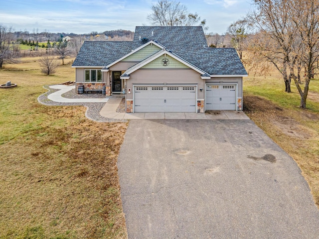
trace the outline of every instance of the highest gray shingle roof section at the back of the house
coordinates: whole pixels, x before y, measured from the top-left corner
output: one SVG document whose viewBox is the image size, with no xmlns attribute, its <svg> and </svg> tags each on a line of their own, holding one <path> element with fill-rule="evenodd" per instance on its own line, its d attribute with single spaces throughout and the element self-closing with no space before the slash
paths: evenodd
<svg viewBox="0 0 319 239">
<path fill-rule="evenodd" d="M 152 36 L 153 32 L 153 36 Z M 141 36 L 141 40 L 140 40 Z M 147 38 L 144 41 L 143 38 Z M 178 48 L 198 48 L 207 46 L 206 37 L 201 26 L 137 26 L 135 27 L 133 48 L 150 40 L 158 41 L 168 50 Z"/>
</svg>

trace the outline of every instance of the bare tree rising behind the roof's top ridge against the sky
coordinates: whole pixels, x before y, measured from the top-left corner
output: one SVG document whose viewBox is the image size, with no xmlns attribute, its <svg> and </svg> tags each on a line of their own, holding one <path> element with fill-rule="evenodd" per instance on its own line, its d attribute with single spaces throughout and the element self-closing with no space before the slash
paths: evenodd
<svg viewBox="0 0 319 239">
<path fill-rule="evenodd" d="M 153 12 L 148 15 L 148 20 L 153 25 L 159 26 L 193 26 L 200 24 L 204 27 L 206 20 L 201 20 L 198 14 L 190 13 L 187 7 L 179 1 L 159 0 L 152 5 Z M 204 28 L 207 30 L 207 28 Z"/>
</svg>

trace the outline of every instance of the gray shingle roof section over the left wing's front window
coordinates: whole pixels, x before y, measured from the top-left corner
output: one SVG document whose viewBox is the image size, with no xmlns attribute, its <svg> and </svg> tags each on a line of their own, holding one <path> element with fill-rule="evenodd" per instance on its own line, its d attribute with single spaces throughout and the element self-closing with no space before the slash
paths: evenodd
<svg viewBox="0 0 319 239">
<path fill-rule="evenodd" d="M 132 41 L 85 41 L 72 66 L 107 66 L 132 51 Z"/>
</svg>

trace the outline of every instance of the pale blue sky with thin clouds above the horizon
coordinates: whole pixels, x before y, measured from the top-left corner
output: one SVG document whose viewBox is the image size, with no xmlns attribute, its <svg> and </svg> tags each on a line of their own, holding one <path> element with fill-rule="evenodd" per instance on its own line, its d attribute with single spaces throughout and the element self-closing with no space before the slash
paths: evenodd
<svg viewBox="0 0 319 239">
<path fill-rule="evenodd" d="M 150 25 L 147 15 L 157 0 L 0 0 L 0 24 L 32 32 L 89 33 Z M 206 19 L 207 32 L 222 34 L 244 16 L 250 0 L 180 0 Z"/>
</svg>

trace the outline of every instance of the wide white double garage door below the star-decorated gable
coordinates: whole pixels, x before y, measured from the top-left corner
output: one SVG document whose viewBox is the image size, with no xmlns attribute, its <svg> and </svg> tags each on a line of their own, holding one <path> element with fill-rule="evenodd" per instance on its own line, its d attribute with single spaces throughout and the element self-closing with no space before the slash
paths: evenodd
<svg viewBox="0 0 319 239">
<path fill-rule="evenodd" d="M 135 86 L 134 112 L 196 112 L 196 86 Z"/>
</svg>

